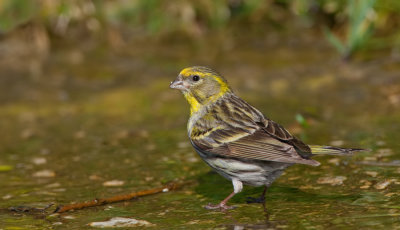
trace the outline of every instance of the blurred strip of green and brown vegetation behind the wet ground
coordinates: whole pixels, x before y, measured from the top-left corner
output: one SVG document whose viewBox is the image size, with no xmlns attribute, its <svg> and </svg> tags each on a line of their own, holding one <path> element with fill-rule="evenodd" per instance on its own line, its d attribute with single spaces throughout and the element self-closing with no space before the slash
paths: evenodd
<svg viewBox="0 0 400 230">
<path fill-rule="evenodd" d="M 296 28 L 324 37 L 347 59 L 359 50 L 398 49 L 399 11 L 396 0 L 3 0 L 0 32 L 29 25 L 42 40 L 84 36 L 119 46 L 131 39 L 199 40 Z"/>
</svg>

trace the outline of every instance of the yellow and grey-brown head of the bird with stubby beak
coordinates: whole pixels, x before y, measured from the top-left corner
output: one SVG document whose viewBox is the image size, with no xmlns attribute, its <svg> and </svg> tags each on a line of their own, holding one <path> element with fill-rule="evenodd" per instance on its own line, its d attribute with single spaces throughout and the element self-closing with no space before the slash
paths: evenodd
<svg viewBox="0 0 400 230">
<path fill-rule="evenodd" d="M 219 73 L 202 66 L 183 69 L 170 87 L 183 93 L 191 113 L 231 92 L 228 82 Z"/>
</svg>

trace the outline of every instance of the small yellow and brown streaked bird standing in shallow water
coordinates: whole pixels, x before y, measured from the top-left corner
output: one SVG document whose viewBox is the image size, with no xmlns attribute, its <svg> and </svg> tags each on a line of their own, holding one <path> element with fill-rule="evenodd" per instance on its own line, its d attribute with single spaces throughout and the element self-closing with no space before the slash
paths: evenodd
<svg viewBox="0 0 400 230">
<path fill-rule="evenodd" d="M 184 68 L 170 88 L 180 90 L 190 105 L 187 132 L 193 148 L 233 185 L 231 194 L 206 209 L 234 208 L 227 202 L 243 185 L 264 186 L 261 196 L 250 202 L 265 203 L 268 187 L 289 166 L 318 166 L 312 159 L 315 155 L 352 155 L 364 150 L 303 143 L 238 97 L 227 80 L 208 67 Z"/>
</svg>

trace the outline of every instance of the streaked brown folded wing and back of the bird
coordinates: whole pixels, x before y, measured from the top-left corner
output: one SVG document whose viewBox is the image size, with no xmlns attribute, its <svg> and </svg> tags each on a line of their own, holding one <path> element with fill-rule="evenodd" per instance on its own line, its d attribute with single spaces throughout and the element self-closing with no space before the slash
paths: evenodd
<svg viewBox="0 0 400 230">
<path fill-rule="evenodd" d="M 204 153 L 253 160 L 319 165 L 300 152 L 309 147 L 240 98 L 219 102 L 196 123 L 194 147 Z M 300 147 L 299 147 L 300 146 Z"/>
</svg>

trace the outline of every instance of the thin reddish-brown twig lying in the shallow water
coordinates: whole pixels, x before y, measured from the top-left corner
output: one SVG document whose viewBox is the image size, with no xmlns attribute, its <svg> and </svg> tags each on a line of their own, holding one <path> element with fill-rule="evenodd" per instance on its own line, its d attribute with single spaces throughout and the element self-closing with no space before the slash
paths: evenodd
<svg viewBox="0 0 400 230">
<path fill-rule="evenodd" d="M 113 196 L 110 198 L 94 199 L 92 201 L 85 201 L 85 202 L 81 202 L 81 203 L 60 205 L 56 208 L 54 213 L 63 213 L 63 212 L 71 211 L 71 210 L 95 207 L 95 206 L 100 206 L 100 205 L 105 205 L 105 204 L 127 201 L 127 200 L 131 200 L 133 198 L 147 196 L 147 195 L 153 195 L 153 194 L 157 194 L 157 193 L 161 193 L 161 192 L 168 192 L 171 190 L 178 189 L 178 188 L 182 187 L 184 184 L 187 184 L 187 182 L 186 183 L 184 183 L 184 182 L 170 183 L 163 187 L 143 190 L 143 191 L 139 191 L 139 192 L 133 192 L 133 193 L 129 193 L 129 194 L 117 195 L 117 196 Z"/>
</svg>

